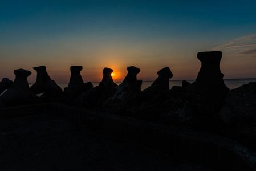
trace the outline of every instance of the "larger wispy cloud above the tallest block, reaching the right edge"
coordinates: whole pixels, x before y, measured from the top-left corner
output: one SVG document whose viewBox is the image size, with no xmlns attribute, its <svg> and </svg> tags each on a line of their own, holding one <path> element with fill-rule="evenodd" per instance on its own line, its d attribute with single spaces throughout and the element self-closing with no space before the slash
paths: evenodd
<svg viewBox="0 0 256 171">
<path fill-rule="evenodd" d="M 223 46 L 214 47 L 214 50 L 220 50 L 222 48 L 230 47 L 243 47 L 256 45 L 256 34 L 251 34 L 247 36 L 242 36 L 241 38 L 234 39 L 232 42 L 227 43 Z"/>
</svg>

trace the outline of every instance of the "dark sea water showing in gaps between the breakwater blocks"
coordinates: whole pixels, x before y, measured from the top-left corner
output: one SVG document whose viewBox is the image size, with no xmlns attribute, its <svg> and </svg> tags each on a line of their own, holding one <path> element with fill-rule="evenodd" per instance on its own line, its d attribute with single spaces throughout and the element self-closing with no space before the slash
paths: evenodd
<svg viewBox="0 0 256 171">
<path fill-rule="evenodd" d="M 195 80 L 186 80 L 189 83 L 193 83 Z M 181 86 L 181 82 L 182 80 L 170 80 L 170 88 L 172 88 L 173 86 Z M 256 78 L 254 79 L 224 79 L 224 83 L 226 84 L 227 87 L 229 87 L 230 89 L 234 89 L 234 88 L 238 88 L 240 86 L 242 86 L 243 84 L 248 84 L 250 82 L 256 82 Z M 151 86 L 151 84 L 153 83 L 153 81 L 143 81 L 142 85 L 141 85 L 141 91 L 143 91 L 144 89 L 148 88 L 149 86 Z M 92 83 L 95 86 L 99 86 L 99 83 Z M 121 84 L 121 82 L 116 82 L 116 84 Z M 62 83 L 62 84 L 58 84 L 62 89 L 64 89 L 65 87 L 68 86 L 68 83 Z"/>
</svg>

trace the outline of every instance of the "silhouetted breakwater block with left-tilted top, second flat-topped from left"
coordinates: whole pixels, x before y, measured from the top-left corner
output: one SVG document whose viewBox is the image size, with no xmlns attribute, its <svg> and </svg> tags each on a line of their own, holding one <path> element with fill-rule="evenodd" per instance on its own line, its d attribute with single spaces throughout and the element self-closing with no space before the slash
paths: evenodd
<svg viewBox="0 0 256 171">
<path fill-rule="evenodd" d="M 61 96 L 62 89 L 50 78 L 46 71 L 45 66 L 39 66 L 33 68 L 36 72 L 36 82 L 30 87 L 31 91 L 38 93 L 45 93 L 42 96 L 52 97 Z"/>
</svg>

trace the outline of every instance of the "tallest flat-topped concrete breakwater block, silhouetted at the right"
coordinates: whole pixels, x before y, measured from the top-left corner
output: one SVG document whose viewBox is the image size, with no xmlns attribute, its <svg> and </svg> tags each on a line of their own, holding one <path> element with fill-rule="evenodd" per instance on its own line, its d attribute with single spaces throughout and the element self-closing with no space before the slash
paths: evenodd
<svg viewBox="0 0 256 171">
<path fill-rule="evenodd" d="M 221 51 L 198 52 L 197 58 L 202 65 L 196 82 L 184 87 L 187 92 L 196 93 L 196 112 L 194 112 L 194 127 L 214 131 L 218 121 L 218 112 L 222 108 L 227 92 L 220 70 Z"/>
</svg>

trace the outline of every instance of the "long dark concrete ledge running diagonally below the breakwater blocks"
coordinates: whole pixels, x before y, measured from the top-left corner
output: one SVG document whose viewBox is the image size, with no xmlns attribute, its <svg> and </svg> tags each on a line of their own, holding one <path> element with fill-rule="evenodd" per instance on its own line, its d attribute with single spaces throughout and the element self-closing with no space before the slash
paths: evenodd
<svg viewBox="0 0 256 171">
<path fill-rule="evenodd" d="M 59 103 L 2 108 L 0 118 L 7 119 L 41 112 L 52 112 L 209 168 L 256 170 L 256 153 L 237 141 L 184 127 L 173 127 Z"/>
</svg>

